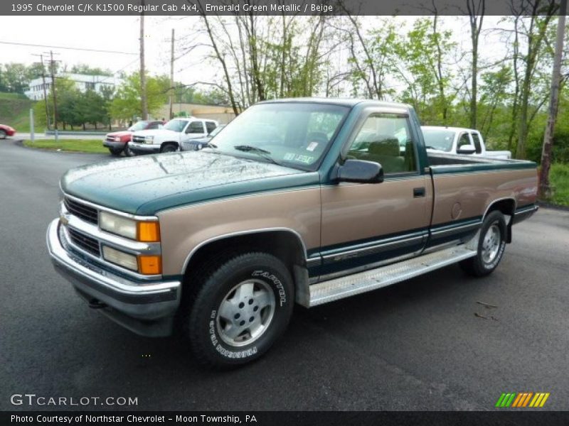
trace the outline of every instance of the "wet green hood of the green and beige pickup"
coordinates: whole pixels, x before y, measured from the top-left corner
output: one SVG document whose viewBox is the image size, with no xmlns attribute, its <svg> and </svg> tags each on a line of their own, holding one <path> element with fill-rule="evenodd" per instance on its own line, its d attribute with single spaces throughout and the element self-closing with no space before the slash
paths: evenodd
<svg viewBox="0 0 569 426">
<path fill-rule="evenodd" d="M 140 215 L 253 192 L 316 185 L 317 172 L 204 151 L 144 155 L 68 170 L 68 195 Z"/>
</svg>

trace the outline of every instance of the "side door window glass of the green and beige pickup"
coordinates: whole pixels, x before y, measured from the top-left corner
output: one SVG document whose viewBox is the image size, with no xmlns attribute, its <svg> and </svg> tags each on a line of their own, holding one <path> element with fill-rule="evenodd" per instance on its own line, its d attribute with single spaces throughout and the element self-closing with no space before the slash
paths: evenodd
<svg viewBox="0 0 569 426">
<path fill-rule="evenodd" d="M 348 158 L 380 163 L 385 175 L 418 171 L 408 118 L 372 114 L 351 144 Z"/>
</svg>

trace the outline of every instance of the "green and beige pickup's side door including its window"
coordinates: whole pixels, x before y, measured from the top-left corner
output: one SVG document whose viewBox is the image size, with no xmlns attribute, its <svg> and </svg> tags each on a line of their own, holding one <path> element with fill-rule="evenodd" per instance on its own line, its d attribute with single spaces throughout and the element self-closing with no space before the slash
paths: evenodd
<svg viewBox="0 0 569 426">
<path fill-rule="evenodd" d="M 385 178 L 322 187 L 320 280 L 412 257 L 425 246 L 432 185 L 419 167 L 414 125 L 406 113 L 371 109 L 356 126 L 339 163 L 380 163 Z"/>
</svg>

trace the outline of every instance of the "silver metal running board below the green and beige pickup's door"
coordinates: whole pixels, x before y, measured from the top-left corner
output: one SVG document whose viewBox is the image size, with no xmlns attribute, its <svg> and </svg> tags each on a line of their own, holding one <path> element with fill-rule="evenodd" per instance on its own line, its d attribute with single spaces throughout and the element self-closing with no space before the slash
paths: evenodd
<svg viewBox="0 0 569 426">
<path fill-rule="evenodd" d="M 388 266 L 381 266 L 381 268 L 371 269 L 370 271 L 354 273 L 353 275 L 313 284 L 309 287 L 309 307 L 399 283 L 400 281 L 471 258 L 476 256 L 476 253 L 475 250 L 471 250 L 464 245 L 454 246 L 450 249 L 418 256 L 408 261 L 393 263 Z"/>
</svg>

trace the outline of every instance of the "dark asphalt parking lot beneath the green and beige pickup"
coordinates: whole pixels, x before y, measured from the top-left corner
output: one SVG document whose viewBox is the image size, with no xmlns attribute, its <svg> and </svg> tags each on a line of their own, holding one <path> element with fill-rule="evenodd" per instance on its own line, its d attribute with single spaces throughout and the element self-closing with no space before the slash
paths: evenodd
<svg viewBox="0 0 569 426">
<path fill-rule="evenodd" d="M 88 309 L 53 271 L 60 175 L 106 159 L 0 141 L 1 410 L 58 409 L 11 405 L 14 393 L 134 397 L 125 408 L 137 410 L 494 410 L 525 391 L 569 409 L 569 212 L 517 225 L 487 278 L 450 266 L 298 308 L 266 356 L 213 372 L 180 339 L 138 337 Z"/>
</svg>

